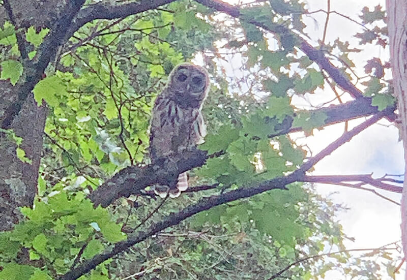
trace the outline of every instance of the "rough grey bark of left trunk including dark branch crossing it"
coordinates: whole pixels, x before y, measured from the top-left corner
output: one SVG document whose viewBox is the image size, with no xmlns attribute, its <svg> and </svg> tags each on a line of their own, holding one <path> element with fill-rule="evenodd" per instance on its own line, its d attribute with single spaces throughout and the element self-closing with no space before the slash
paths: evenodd
<svg viewBox="0 0 407 280">
<path fill-rule="evenodd" d="M 45 68 L 55 57 L 72 19 L 84 0 L 77 1 L 3 1 L 0 23 L 10 21 L 16 29 L 20 62 L 24 71 L 20 81 L 12 86 L 0 83 L 0 231 L 10 230 L 21 219 L 20 206 L 33 206 L 37 193 L 38 171 L 43 144 L 43 131 L 47 117 L 45 106 L 37 106 L 32 90 L 42 78 Z M 32 3 L 33 2 L 33 3 Z M 35 2 L 35 3 L 34 3 Z M 54 3 L 55 2 L 55 3 Z M 30 6 L 30 3 L 33 5 Z M 54 3 L 55 5 L 48 5 Z M 30 7 L 30 9 L 26 9 Z M 23 31 L 28 26 L 51 26 L 33 60 L 28 59 Z M 31 163 L 17 158 L 17 143 L 10 132 L 22 138 L 19 146 Z"/>
</svg>

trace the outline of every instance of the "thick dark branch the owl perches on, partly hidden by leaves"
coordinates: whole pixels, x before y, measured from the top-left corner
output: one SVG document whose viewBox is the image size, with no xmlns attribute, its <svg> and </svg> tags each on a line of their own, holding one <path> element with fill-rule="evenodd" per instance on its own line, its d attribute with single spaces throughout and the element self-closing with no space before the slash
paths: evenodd
<svg viewBox="0 0 407 280">
<path fill-rule="evenodd" d="M 377 108 L 371 106 L 369 99 L 360 99 L 345 104 L 331 105 L 329 107 L 315 110 L 315 112 L 322 111 L 327 115 L 326 125 L 332 125 L 334 123 L 342 122 L 344 120 L 350 120 L 357 117 L 369 116 L 377 112 Z M 380 112 L 375 117 L 376 119 L 369 119 L 367 126 L 377 121 L 387 113 L 391 113 L 392 109 Z M 363 130 L 365 127 L 362 123 L 358 131 Z M 290 123 L 289 123 L 290 125 Z M 271 137 L 283 135 L 289 132 L 300 131 L 301 128 L 283 128 L 278 134 L 271 135 Z M 353 137 L 355 134 L 348 132 L 343 137 Z M 335 149 L 335 145 L 331 146 Z M 172 170 L 174 176 L 178 175 L 178 171 L 174 169 L 174 166 L 183 165 L 181 172 L 190 170 L 195 167 L 202 166 L 206 162 L 206 154 L 202 154 L 199 151 L 190 151 L 183 155 L 180 155 L 179 160 L 174 162 L 163 162 L 162 167 L 159 166 L 132 166 L 125 168 L 115 174 L 112 178 L 103 183 L 97 190 L 95 190 L 89 198 L 92 200 L 95 206 L 101 205 L 102 207 L 109 206 L 114 200 L 120 197 L 129 197 L 130 195 L 140 194 L 140 191 L 149 185 L 159 182 L 165 182 L 168 180 L 168 170 Z M 171 167 L 171 169 L 169 169 Z M 165 184 L 165 183 L 164 183 Z"/>
</svg>

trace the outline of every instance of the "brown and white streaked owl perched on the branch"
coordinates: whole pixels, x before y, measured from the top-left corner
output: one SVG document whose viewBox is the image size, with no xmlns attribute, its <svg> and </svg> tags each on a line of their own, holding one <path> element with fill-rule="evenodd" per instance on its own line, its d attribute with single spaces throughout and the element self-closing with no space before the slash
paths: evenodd
<svg viewBox="0 0 407 280">
<path fill-rule="evenodd" d="M 183 63 L 169 74 L 168 83 L 157 96 L 152 111 L 150 157 L 153 164 L 203 143 L 206 126 L 201 108 L 208 90 L 208 72 L 202 67 Z M 187 174 L 181 173 L 176 185 L 155 185 L 153 188 L 161 197 L 167 193 L 170 197 L 178 197 L 188 188 Z"/>
</svg>

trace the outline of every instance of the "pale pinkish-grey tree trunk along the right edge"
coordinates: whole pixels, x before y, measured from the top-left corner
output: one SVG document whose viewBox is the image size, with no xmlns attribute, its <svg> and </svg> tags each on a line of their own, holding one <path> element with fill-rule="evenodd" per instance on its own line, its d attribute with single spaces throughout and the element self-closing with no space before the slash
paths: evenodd
<svg viewBox="0 0 407 280">
<path fill-rule="evenodd" d="M 390 40 L 390 59 L 394 93 L 398 101 L 400 135 L 403 140 L 404 162 L 407 163 L 407 1 L 386 0 Z M 407 167 L 407 165 L 405 165 Z M 407 169 L 404 170 L 404 175 Z M 405 176 L 404 176 L 405 177 Z M 401 240 L 407 256 L 407 180 L 401 195 Z M 407 273 L 404 276 L 407 279 Z"/>
</svg>

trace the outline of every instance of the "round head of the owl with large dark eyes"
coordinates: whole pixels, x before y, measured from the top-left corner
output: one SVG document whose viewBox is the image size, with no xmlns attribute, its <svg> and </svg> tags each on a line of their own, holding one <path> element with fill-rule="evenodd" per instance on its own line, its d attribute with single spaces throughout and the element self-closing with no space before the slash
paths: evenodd
<svg viewBox="0 0 407 280">
<path fill-rule="evenodd" d="M 180 105 L 200 107 L 209 90 L 208 72 L 190 63 L 180 64 L 169 75 L 167 88 Z"/>
</svg>

